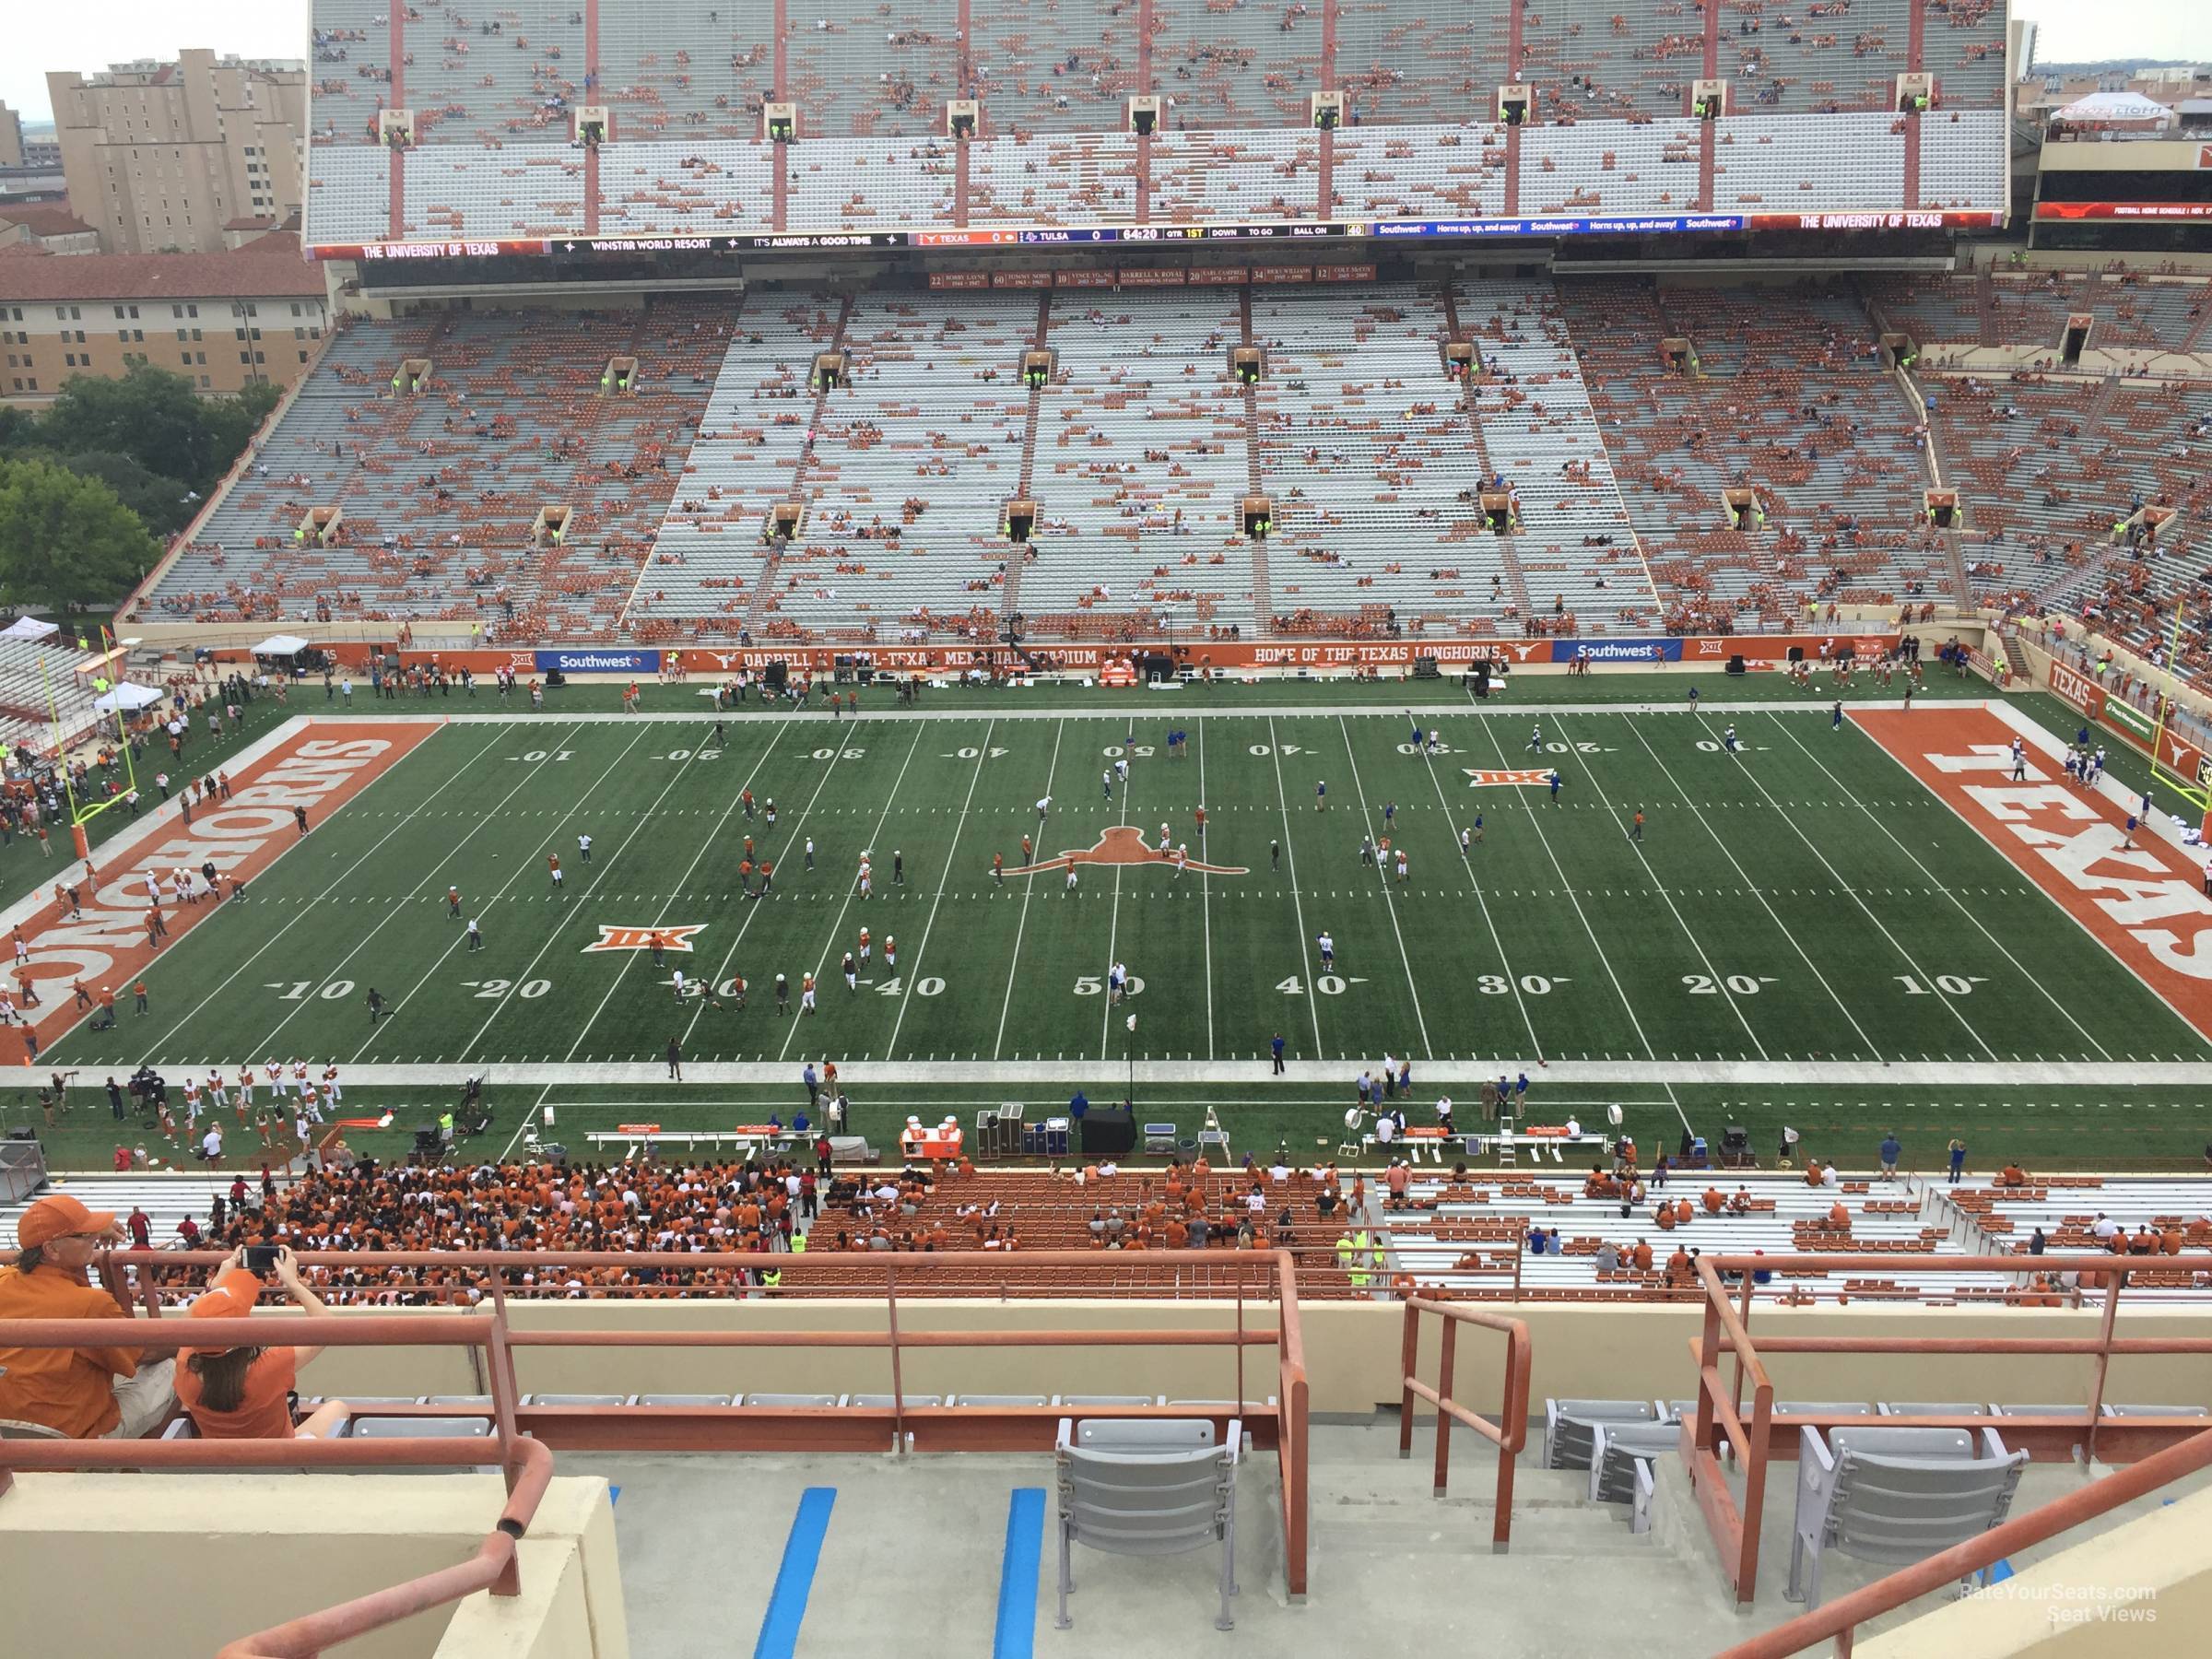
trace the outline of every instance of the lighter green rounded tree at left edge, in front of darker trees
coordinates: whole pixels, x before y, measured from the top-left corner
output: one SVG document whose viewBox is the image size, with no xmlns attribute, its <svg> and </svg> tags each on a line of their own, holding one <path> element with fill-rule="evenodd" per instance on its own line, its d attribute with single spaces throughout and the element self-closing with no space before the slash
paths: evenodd
<svg viewBox="0 0 2212 1659">
<path fill-rule="evenodd" d="M 0 602 L 108 606 L 157 557 L 159 544 L 108 484 L 51 460 L 0 460 Z"/>
</svg>

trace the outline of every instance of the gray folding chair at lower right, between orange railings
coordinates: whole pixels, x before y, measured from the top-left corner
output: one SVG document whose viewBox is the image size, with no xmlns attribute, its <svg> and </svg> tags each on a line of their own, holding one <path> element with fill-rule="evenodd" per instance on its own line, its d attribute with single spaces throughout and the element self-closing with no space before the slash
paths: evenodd
<svg viewBox="0 0 2212 1659">
<path fill-rule="evenodd" d="M 2004 1524 L 2028 1462 L 1995 1429 L 1798 1429 L 1798 1438 L 1785 1595 L 1807 1606 L 1820 1604 L 1823 1551 L 1909 1566 Z"/>
</svg>

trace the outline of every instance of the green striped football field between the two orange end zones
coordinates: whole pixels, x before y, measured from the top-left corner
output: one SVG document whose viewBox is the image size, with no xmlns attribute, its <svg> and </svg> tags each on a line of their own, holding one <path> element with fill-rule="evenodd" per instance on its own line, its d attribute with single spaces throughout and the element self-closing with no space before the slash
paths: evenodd
<svg viewBox="0 0 2212 1659">
<path fill-rule="evenodd" d="M 827 1055 L 1011 1093 L 1037 1062 L 1261 1086 L 1274 1035 L 1347 1093 L 1385 1055 L 1416 1079 L 1593 1062 L 1661 1086 L 1708 1062 L 2212 1057 L 1825 701 L 1416 714 L 1433 748 L 1374 706 L 1009 697 L 1002 714 L 732 714 L 719 743 L 710 714 L 422 717 L 246 900 L 190 914 L 144 973 L 146 1013 L 126 998 L 111 1031 L 80 1024 L 49 1057 L 553 1082 L 677 1042 L 688 1066 L 763 1079 Z M 741 876 L 748 838 L 774 867 L 765 896 Z"/>
</svg>

